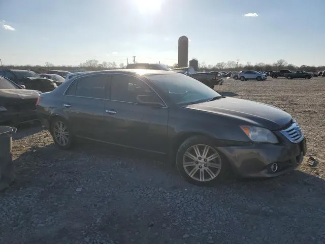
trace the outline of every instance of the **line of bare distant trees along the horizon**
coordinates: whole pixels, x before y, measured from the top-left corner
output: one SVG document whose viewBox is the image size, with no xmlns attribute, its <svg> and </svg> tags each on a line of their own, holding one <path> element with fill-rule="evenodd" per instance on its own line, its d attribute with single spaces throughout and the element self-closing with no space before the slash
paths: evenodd
<svg viewBox="0 0 325 244">
<path fill-rule="evenodd" d="M 177 64 L 168 66 L 169 68 L 177 67 Z M 117 64 L 116 62 L 102 62 L 100 63 L 96 59 L 88 59 L 84 63 L 80 63 L 79 66 L 54 66 L 50 62 L 46 62 L 44 66 L 3 66 L 2 69 L 25 69 L 33 70 L 38 73 L 45 73 L 48 70 L 66 70 L 70 72 L 78 71 L 99 71 L 99 70 L 111 70 L 111 69 L 123 69 L 125 68 L 124 63 Z M 284 59 L 278 59 L 273 64 L 256 63 L 255 65 L 247 62 L 246 64 L 239 64 L 235 61 L 229 60 L 228 62 L 219 62 L 216 65 L 208 65 L 205 62 L 199 63 L 199 71 L 240 71 L 240 70 L 258 70 L 258 71 L 279 71 L 281 69 L 288 69 L 292 71 L 305 70 L 307 72 L 318 72 L 324 71 L 325 66 L 296 66 L 294 64 L 288 64 Z"/>
</svg>

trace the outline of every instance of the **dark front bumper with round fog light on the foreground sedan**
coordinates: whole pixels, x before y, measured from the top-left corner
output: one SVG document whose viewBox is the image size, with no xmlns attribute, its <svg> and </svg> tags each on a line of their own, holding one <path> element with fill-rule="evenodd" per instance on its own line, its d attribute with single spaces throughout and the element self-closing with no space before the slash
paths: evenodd
<svg viewBox="0 0 325 244">
<path fill-rule="evenodd" d="M 304 146 L 305 149 L 303 149 Z M 218 149 L 228 158 L 238 175 L 274 177 L 291 171 L 302 163 L 306 154 L 306 140 L 300 143 L 255 144 L 218 147 Z M 272 171 L 273 164 L 278 166 L 275 172 Z"/>
</svg>

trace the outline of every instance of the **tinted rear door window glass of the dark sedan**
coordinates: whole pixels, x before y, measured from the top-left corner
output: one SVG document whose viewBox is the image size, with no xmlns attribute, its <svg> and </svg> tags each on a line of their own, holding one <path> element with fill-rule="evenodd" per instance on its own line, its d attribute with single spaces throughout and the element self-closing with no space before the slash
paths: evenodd
<svg viewBox="0 0 325 244">
<path fill-rule="evenodd" d="M 76 96 L 105 98 L 107 75 L 92 75 L 79 78 L 76 81 Z"/>
</svg>

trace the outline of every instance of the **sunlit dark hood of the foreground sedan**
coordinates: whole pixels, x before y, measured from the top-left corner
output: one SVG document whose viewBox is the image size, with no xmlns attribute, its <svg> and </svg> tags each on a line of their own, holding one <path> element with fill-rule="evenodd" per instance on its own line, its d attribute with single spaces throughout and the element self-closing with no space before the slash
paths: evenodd
<svg viewBox="0 0 325 244">
<path fill-rule="evenodd" d="M 272 105 L 230 97 L 185 107 L 233 117 L 243 120 L 243 125 L 254 125 L 270 130 L 279 130 L 292 119 L 290 114 Z"/>
</svg>

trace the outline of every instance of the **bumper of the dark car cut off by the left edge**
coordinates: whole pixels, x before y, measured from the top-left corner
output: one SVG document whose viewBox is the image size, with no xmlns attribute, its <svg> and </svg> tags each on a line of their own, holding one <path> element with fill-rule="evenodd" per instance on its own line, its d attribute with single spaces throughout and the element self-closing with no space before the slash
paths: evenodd
<svg viewBox="0 0 325 244">
<path fill-rule="evenodd" d="M 23 112 L 0 112 L 0 125 L 20 125 L 38 120 L 36 110 L 27 110 Z"/>
</svg>

